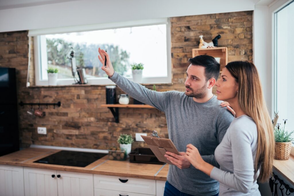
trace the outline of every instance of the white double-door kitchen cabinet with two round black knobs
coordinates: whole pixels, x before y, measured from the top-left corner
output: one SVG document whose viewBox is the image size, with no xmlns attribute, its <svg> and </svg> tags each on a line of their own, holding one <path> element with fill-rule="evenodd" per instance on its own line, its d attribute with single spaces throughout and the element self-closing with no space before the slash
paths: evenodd
<svg viewBox="0 0 294 196">
<path fill-rule="evenodd" d="M 26 196 L 94 195 L 93 174 L 24 168 Z"/>
</svg>

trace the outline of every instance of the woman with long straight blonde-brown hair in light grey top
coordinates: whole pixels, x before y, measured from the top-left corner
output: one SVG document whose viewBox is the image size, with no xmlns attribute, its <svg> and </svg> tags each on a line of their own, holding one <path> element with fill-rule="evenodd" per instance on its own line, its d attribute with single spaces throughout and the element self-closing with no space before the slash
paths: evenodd
<svg viewBox="0 0 294 196">
<path fill-rule="evenodd" d="M 219 195 L 260 195 L 256 179 L 265 182 L 272 172 L 273 125 L 258 72 L 253 63 L 228 63 L 216 82 L 218 100 L 235 111 L 222 142 L 215 150 L 220 169 L 206 163 L 198 149 L 187 145 L 186 158 L 198 170 L 220 182 Z"/>
</svg>

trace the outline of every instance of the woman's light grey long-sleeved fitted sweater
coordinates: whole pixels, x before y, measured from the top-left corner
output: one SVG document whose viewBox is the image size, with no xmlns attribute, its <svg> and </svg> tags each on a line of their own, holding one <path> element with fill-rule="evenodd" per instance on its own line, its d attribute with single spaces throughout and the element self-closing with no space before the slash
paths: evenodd
<svg viewBox="0 0 294 196">
<path fill-rule="evenodd" d="M 220 169 L 214 167 L 210 175 L 220 182 L 220 196 L 260 195 L 259 170 L 254 172 L 253 166 L 256 150 L 255 122 L 246 115 L 235 118 L 215 151 Z"/>
</svg>

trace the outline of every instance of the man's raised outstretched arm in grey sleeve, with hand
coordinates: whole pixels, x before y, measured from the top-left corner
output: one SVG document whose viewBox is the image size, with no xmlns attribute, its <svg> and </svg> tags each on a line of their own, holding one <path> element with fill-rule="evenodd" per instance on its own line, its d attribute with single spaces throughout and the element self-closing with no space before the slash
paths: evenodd
<svg viewBox="0 0 294 196">
<path fill-rule="evenodd" d="M 168 95 L 169 92 L 156 92 L 149 90 L 142 85 L 132 82 L 127 78 L 119 75 L 117 72 L 114 71 L 109 55 L 104 50 L 98 49 L 99 52 L 99 60 L 104 65 L 104 60 L 106 56 L 106 67 L 102 66 L 102 70 L 108 75 L 111 81 L 116 83 L 116 85 L 123 90 L 125 93 L 130 95 L 131 97 L 139 100 L 143 103 L 151 105 L 158 110 L 165 111 L 167 103 L 169 103 Z"/>
</svg>

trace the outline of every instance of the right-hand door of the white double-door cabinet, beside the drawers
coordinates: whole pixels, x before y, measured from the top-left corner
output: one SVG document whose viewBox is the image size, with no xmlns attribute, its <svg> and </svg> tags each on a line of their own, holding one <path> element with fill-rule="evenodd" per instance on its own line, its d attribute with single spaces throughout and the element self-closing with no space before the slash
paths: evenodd
<svg viewBox="0 0 294 196">
<path fill-rule="evenodd" d="M 57 171 L 58 196 L 93 196 L 93 174 Z"/>
</svg>

